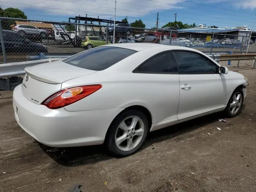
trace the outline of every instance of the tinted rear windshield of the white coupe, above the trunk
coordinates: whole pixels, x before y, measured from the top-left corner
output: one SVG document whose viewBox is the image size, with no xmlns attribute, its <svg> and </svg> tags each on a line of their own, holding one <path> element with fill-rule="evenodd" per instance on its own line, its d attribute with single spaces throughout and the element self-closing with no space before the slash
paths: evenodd
<svg viewBox="0 0 256 192">
<path fill-rule="evenodd" d="M 100 71 L 136 52 L 125 48 L 103 46 L 81 52 L 62 61 L 84 69 Z"/>
</svg>

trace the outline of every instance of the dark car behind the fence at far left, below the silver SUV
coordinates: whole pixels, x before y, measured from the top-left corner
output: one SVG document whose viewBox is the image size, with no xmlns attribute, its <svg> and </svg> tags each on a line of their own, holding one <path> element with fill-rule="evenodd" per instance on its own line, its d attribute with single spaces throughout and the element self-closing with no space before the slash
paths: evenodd
<svg viewBox="0 0 256 192">
<path fill-rule="evenodd" d="M 16 32 L 3 30 L 4 46 L 6 53 L 40 53 L 48 52 L 45 45 L 34 43 L 17 34 Z M 0 46 L 2 52 L 2 46 Z"/>
</svg>

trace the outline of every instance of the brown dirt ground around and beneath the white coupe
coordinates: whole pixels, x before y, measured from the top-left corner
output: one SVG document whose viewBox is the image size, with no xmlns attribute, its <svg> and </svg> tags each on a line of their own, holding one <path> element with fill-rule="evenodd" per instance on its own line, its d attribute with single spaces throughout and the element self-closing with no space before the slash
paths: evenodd
<svg viewBox="0 0 256 192">
<path fill-rule="evenodd" d="M 102 146 L 48 151 L 18 126 L 11 99 L 0 102 L 0 191 L 67 192 L 81 184 L 82 192 L 255 192 L 256 70 L 239 72 L 250 82 L 239 116 L 212 114 L 152 132 L 126 158 Z"/>
</svg>

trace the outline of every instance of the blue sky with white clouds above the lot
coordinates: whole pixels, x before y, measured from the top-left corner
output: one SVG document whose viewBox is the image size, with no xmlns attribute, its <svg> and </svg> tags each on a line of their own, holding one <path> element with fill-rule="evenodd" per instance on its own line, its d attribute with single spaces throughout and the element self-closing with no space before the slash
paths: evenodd
<svg viewBox="0 0 256 192">
<path fill-rule="evenodd" d="M 128 17 L 128 22 L 141 19 L 147 28 L 175 20 L 183 23 L 206 24 L 219 28 L 247 26 L 253 23 L 256 0 L 116 0 L 116 20 Z M 30 19 L 68 21 L 68 17 L 85 16 L 114 20 L 114 0 L 0 0 L 2 8 L 14 7 Z M 256 20 L 255 20 L 256 22 Z"/>
</svg>

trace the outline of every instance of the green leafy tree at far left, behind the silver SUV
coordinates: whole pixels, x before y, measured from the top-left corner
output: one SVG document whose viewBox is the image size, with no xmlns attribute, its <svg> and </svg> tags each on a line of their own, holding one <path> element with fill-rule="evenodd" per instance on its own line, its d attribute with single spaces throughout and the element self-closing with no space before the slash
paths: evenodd
<svg viewBox="0 0 256 192">
<path fill-rule="evenodd" d="M 21 18 L 21 19 L 27 19 L 27 16 L 24 14 L 23 11 L 17 9 L 17 8 L 6 8 L 3 10 L 0 8 L 0 16 L 2 17 L 10 17 L 10 18 Z M 6 30 L 11 29 L 11 25 L 15 24 L 15 20 L 13 19 L 3 19 L 2 20 L 2 28 Z"/>
</svg>

